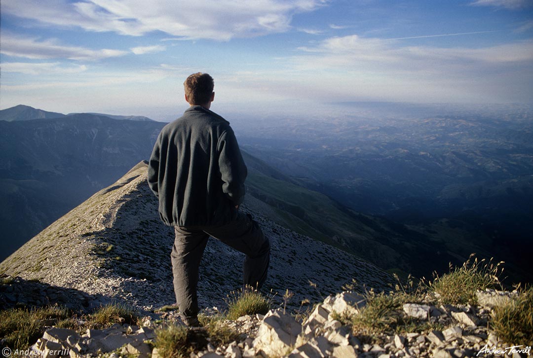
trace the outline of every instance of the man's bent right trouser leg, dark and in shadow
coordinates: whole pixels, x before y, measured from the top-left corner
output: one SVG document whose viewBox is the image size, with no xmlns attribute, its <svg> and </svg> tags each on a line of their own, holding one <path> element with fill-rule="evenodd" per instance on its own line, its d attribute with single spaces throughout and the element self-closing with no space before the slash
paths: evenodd
<svg viewBox="0 0 533 358">
<path fill-rule="evenodd" d="M 260 289 L 270 262 L 270 242 L 252 216 L 240 213 L 231 223 L 204 229 L 212 237 L 244 253 L 244 286 Z"/>
</svg>

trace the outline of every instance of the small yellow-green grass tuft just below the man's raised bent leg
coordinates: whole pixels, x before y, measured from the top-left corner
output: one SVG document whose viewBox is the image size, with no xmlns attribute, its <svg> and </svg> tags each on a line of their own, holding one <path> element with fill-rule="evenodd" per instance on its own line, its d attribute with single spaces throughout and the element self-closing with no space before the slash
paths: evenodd
<svg viewBox="0 0 533 358">
<path fill-rule="evenodd" d="M 232 297 L 227 298 L 228 320 L 236 320 L 241 316 L 253 315 L 256 313 L 266 314 L 272 305 L 271 299 L 266 298 L 257 290 L 240 290 L 232 292 Z"/>
</svg>

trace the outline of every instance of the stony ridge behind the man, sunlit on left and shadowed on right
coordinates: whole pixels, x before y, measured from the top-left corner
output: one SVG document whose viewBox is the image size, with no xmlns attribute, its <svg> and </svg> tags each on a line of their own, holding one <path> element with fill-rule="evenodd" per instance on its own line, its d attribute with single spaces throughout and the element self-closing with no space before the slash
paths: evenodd
<svg viewBox="0 0 533 358">
<path fill-rule="evenodd" d="M 171 227 L 160 222 L 157 198 L 146 177 L 147 164 L 140 162 L 6 258 L 0 263 L 0 274 L 100 294 L 146 310 L 174 303 L 169 256 L 174 235 Z M 302 299 L 320 300 L 352 279 L 387 289 L 389 274 L 273 223 L 258 212 L 263 205 L 247 197 L 242 210 L 259 221 L 271 240 L 266 286 L 279 292 L 279 297 L 292 290 L 292 304 L 299 306 Z M 210 239 L 200 270 L 201 306 L 223 306 L 224 297 L 241 286 L 243 259 Z"/>
</svg>

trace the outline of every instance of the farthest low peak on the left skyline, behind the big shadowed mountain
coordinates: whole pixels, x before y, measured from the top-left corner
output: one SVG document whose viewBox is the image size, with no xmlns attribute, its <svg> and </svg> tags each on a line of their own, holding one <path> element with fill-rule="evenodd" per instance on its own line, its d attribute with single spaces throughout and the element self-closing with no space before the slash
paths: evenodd
<svg viewBox="0 0 533 358">
<path fill-rule="evenodd" d="M 15 105 L 15 107 L 7 108 L 0 110 L 0 120 L 5 120 L 8 122 L 18 121 L 18 120 L 31 120 L 31 119 L 50 119 L 50 118 L 64 118 L 72 117 L 74 115 L 96 115 L 100 117 L 109 117 L 111 119 L 127 119 L 127 120 L 136 120 L 136 121 L 153 121 L 148 117 L 144 116 L 115 116 L 115 115 L 105 115 L 102 113 L 69 113 L 68 115 L 63 115 L 63 113 L 49 112 L 42 109 L 36 109 L 29 107 L 28 105 Z"/>
</svg>

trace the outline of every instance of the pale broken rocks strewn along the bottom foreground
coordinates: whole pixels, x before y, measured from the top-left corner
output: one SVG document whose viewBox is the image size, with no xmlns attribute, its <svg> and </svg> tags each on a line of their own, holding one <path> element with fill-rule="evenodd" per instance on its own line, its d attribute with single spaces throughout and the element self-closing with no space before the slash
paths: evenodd
<svg viewBox="0 0 533 358">
<path fill-rule="evenodd" d="M 511 292 L 485 291 L 479 295 L 512 297 Z M 328 296 L 305 320 L 298 321 L 282 308 L 268 314 L 243 316 L 224 324 L 241 333 L 239 339 L 219 347 L 208 343 L 193 357 L 290 357 L 290 358 L 356 358 L 356 357 L 471 357 L 506 356 L 519 358 L 530 353 L 528 347 L 508 348 L 487 328 L 489 306 L 450 306 L 406 304 L 405 318 L 439 323 L 443 329 L 425 332 L 378 334 L 370 344 L 365 335 L 354 335 L 352 329 L 335 320 L 336 314 L 360 314 L 365 306 L 361 296 L 342 292 Z M 426 308 L 427 307 L 427 308 Z M 421 312 L 427 312 L 423 317 Z M 469 316 L 473 325 L 463 318 Z M 119 326 L 88 329 L 83 335 L 69 329 L 50 328 L 32 349 L 42 356 L 69 355 L 109 357 L 131 354 L 138 357 L 159 357 L 151 348 L 159 326 L 148 317 L 143 327 Z M 201 328 L 200 328 L 201 330 Z M 513 352 L 514 349 L 514 352 Z M 52 352 L 52 353 L 51 353 Z M 62 352 L 58 354 L 57 352 Z"/>
</svg>

